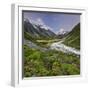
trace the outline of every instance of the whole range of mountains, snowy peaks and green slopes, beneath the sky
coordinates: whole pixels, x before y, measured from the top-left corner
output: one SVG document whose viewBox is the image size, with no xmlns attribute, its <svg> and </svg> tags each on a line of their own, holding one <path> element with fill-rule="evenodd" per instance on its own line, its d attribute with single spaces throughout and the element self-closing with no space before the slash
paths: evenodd
<svg viewBox="0 0 90 90">
<path fill-rule="evenodd" d="M 40 24 L 34 24 L 28 19 L 24 20 L 24 38 L 30 41 L 36 39 L 55 39 L 64 38 L 64 44 L 67 46 L 80 49 L 80 23 L 77 24 L 70 32 L 61 30 L 58 34 L 55 34 L 49 28 L 46 28 Z"/>
</svg>

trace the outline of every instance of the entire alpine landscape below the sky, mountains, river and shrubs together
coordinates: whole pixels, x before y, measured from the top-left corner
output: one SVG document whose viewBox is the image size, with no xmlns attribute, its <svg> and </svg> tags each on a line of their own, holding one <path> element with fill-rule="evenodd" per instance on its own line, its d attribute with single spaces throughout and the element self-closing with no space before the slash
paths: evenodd
<svg viewBox="0 0 90 90">
<path fill-rule="evenodd" d="M 23 21 L 24 77 L 80 74 L 80 23 L 57 34 L 28 19 Z"/>
</svg>

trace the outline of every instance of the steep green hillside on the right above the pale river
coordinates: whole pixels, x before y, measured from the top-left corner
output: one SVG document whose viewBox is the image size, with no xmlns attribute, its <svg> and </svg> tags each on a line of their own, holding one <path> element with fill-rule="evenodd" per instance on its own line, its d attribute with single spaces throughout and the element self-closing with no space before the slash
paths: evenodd
<svg viewBox="0 0 90 90">
<path fill-rule="evenodd" d="M 65 37 L 63 43 L 67 46 L 80 49 L 80 23 Z"/>
</svg>

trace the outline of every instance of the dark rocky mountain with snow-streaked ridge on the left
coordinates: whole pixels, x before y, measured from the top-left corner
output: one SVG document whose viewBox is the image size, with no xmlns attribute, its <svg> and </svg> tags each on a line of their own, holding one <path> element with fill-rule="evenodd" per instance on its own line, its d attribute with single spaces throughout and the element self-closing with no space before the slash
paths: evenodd
<svg viewBox="0 0 90 90">
<path fill-rule="evenodd" d="M 31 23 L 28 19 L 24 20 L 24 32 L 28 33 L 33 38 L 52 38 L 56 34 L 42 25 Z"/>
</svg>

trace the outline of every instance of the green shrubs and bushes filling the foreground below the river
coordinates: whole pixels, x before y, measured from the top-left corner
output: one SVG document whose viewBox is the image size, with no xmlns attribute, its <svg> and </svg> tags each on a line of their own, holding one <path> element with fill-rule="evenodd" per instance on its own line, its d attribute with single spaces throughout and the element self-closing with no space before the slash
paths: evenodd
<svg viewBox="0 0 90 90">
<path fill-rule="evenodd" d="M 24 45 L 24 77 L 78 74 L 79 56 L 55 50 L 41 51 Z"/>
</svg>

